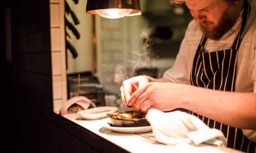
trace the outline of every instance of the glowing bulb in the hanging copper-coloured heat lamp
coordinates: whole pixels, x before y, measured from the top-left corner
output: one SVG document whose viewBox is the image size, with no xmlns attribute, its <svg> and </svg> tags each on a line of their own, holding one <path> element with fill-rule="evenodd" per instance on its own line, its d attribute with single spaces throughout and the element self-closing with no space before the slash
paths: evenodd
<svg viewBox="0 0 256 153">
<path fill-rule="evenodd" d="M 132 9 L 96 9 L 97 14 L 108 19 L 118 19 L 127 16 Z"/>
</svg>

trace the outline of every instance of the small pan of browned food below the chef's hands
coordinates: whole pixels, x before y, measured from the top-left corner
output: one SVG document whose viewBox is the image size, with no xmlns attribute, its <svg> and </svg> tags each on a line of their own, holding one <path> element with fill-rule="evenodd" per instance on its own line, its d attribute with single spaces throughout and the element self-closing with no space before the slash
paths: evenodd
<svg viewBox="0 0 256 153">
<path fill-rule="evenodd" d="M 147 112 L 143 111 L 123 111 L 107 113 L 111 120 L 112 126 L 116 127 L 143 127 L 150 126 L 145 118 Z"/>
</svg>

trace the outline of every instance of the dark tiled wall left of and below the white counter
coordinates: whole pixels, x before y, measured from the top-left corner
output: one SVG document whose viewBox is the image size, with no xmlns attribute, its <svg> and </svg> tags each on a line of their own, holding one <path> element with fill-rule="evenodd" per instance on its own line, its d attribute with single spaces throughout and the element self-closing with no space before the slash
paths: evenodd
<svg viewBox="0 0 256 153">
<path fill-rule="evenodd" d="M 61 1 L 61 0 L 59 0 Z M 57 3 L 59 1 L 52 0 Z M 61 1 L 62 2 L 62 1 Z M 1 67 L 5 67 L 1 120 L 8 153 L 108 153 L 126 152 L 53 112 L 49 0 L 9 0 L 12 61 L 5 60 L 1 41 Z M 1 26 L 4 24 L 1 24 Z M 1 38 L 5 39 L 1 27 Z"/>
</svg>

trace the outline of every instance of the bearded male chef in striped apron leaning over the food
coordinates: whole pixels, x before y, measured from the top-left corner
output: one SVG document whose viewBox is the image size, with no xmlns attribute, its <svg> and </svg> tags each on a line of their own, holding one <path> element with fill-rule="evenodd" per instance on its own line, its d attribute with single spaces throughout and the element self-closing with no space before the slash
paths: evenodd
<svg viewBox="0 0 256 153">
<path fill-rule="evenodd" d="M 135 110 L 189 110 L 220 129 L 228 147 L 256 152 L 256 0 L 185 2 L 194 19 L 173 67 L 162 78 L 123 81 L 123 103 Z"/>
</svg>

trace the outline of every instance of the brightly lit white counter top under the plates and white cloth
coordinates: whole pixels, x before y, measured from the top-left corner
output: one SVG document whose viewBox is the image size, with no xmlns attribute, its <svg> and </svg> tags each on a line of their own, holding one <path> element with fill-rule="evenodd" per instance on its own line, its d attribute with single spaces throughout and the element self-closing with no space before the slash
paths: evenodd
<svg viewBox="0 0 256 153">
<path fill-rule="evenodd" d="M 128 152 L 174 152 L 174 153 L 241 153 L 240 151 L 220 146 L 207 144 L 194 145 L 193 143 L 181 143 L 176 145 L 164 145 L 156 141 L 152 132 L 144 133 L 119 133 L 103 127 L 100 123 L 110 122 L 110 118 L 99 120 L 85 120 L 77 113 L 65 114 L 63 117 L 93 132 Z"/>
</svg>

